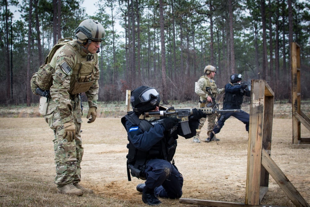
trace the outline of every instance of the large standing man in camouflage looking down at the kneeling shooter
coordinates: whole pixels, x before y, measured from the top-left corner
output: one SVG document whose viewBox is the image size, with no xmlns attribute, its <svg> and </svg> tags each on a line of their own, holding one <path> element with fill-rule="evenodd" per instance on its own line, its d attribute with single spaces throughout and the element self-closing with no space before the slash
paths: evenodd
<svg viewBox="0 0 310 207">
<path fill-rule="evenodd" d="M 93 190 L 82 187 L 81 139 L 82 110 L 79 93 L 88 98 L 87 123 L 96 119 L 98 99 L 98 55 L 104 38 L 103 26 L 92 19 L 81 22 L 75 30 L 77 39 L 68 41 L 54 54 L 49 65 L 55 69 L 45 121 L 54 131 L 57 192 L 82 196 Z"/>
</svg>

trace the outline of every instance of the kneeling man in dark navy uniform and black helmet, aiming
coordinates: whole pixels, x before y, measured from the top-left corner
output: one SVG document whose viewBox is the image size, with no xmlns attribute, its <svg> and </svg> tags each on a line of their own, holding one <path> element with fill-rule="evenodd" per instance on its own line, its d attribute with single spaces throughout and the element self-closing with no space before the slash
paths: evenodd
<svg viewBox="0 0 310 207">
<path fill-rule="evenodd" d="M 131 176 L 145 180 L 136 188 L 142 192 L 142 201 L 148 205 L 161 204 L 158 197 L 180 198 L 183 177 L 173 160 L 176 140 L 178 135 L 186 139 L 195 136 L 199 119 L 206 114 L 193 109 L 193 115 L 188 118 L 190 132 L 184 135 L 175 117 L 154 117 L 149 121 L 144 118 L 145 112 L 167 109 L 159 105 L 160 97 L 155 88 L 136 88 L 131 93 L 130 102 L 133 111 L 121 119 L 129 141 L 126 156 L 128 180 L 131 181 Z"/>
</svg>

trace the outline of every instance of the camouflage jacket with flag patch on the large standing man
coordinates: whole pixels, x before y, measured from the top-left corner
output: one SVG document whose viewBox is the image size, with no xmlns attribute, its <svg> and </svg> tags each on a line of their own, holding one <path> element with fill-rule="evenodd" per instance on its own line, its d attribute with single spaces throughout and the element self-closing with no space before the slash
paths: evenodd
<svg viewBox="0 0 310 207">
<path fill-rule="evenodd" d="M 88 106 L 97 107 L 99 66 L 98 54 L 85 53 L 76 40 L 60 47 L 54 54 L 50 65 L 55 68 L 53 74 L 53 84 L 50 88 L 51 100 L 49 101 L 47 113 L 51 113 L 56 108 L 59 110 L 62 122 L 73 120 L 71 100 L 79 92 L 85 92 L 88 98 Z M 90 73 L 92 75 L 85 75 Z M 73 90 L 76 88 L 76 80 L 83 78 L 84 82 L 91 82 L 89 87 L 83 91 Z M 87 80 L 85 81 L 85 79 Z M 80 81 L 78 81 L 80 82 Z M 73 92 L 74 91 L 74 92 Z M 73 93 L 72 93 L 73 92 Z"/>
</svg>

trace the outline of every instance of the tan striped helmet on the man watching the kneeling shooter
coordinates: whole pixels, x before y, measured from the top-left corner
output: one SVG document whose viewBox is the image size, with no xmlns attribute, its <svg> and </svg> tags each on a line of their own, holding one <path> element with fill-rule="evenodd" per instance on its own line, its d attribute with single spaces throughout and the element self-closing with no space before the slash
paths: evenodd
<svg viewBox="0 0 310 207">
<path fill-rule="evenodd" d="M 82 21 L 74 33 L 78 43 L 83 45 L 91 41 L 101 42 L 105 35 L 103 26 L 93 19 Z"/>
</svg>

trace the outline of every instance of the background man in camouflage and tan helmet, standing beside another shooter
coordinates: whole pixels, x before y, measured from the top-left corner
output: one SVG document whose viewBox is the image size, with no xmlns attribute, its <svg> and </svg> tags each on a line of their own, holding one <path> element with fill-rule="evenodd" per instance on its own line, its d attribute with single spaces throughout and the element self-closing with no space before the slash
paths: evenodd
<svg viewBox="0 0 310 207">
<path fill-rule="evenodd" d="M 200 96 L 200 101 L 198 103 L 198 107 L 206 107 L 209 103 L 212 103 L 212 96 L 214 99 L 216 99 L 217 94 L 223 93 L 224 88 L 219 89 L 217 85 L 215 84 L 215 73 L 216 68 L 212 65 L 207 65 L 205 69 L 203 70 L 205 75 L 201 76 L 199 80 L 195 83 L 195 93 L 197 93 Z M 206 88 L 210 87 L 209 90 L 206 90 Z M 200 131 L 203 127 L 203 124 L 205 123 L 206 119 L 208 119 L 208 131 L 212 131 L 214 125 L 215 125 L 215 119 L 216 114 L 212 114 L 208 116 L 208 118 L 201 118 L 200 124 L 197 129 L 196 136 L 193 137 L 193 142 L 200 143 Z"/>
</svg>

